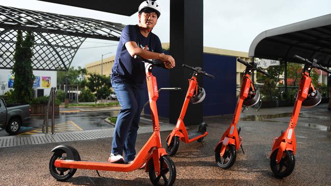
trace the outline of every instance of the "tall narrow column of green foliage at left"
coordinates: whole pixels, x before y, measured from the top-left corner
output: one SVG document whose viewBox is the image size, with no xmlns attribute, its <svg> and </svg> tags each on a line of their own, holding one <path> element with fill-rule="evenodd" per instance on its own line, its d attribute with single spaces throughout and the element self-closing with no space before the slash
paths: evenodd
<svg viewBox="0 0 331 186">
<path fill-rule="evenodd" d="M 12 74 L 15 76 L 13 96 L 17 103 L 30 103 L 33 99 L 33 82 L 35 76 L 32 68 L 32 48 L 34 46 L 34 35 L 27 32 L 23 40 L 22 31 L 17 30 L 17 41 L 15 46 Z"/>
</svg>

